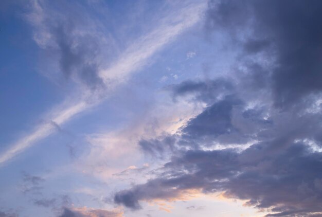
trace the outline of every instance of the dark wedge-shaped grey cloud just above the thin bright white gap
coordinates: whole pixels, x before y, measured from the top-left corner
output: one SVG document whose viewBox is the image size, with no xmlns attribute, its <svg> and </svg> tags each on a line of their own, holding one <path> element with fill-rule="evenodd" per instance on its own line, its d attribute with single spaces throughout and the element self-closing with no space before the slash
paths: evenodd
<svg viewBox="0 0 322 217">
<path fill-rule="evenodd" d="M 270 119 L 264 119 L 264 108 L 247 108 L 236 95 L 227 95 L 205 108 L 180 130 L 179 144 L 191 147 L 220 144 L 242 144 L 257 139 L 257 130 L 269 128 Z"/>
</svg>

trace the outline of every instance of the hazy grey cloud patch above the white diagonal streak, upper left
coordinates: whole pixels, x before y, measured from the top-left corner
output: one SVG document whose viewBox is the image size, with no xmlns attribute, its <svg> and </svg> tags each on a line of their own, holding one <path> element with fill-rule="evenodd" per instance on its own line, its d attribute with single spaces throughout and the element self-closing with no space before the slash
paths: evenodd
<svg viewBox="0 0 322 217">
<path fill-rule="evenodd" d="M 65 79 L 75 78 L 92 89 L 102 87 L 98 68 L 104 53 L 108 60 L 112 39 L 107 42 L 108 32 L 99 28 L 99 21 L 82 4 L 64 1 L 34 3 L 35 11 L 29 14 L 34 26 L 35 41 L 43 48 Z M 56 10 L 53 10 L 55 8 Z M 108 47 L 108 44 L 110 47 Z M 106 46 L 104 50 L 101 48 Z M 48 64 L 46 64 L 48 67 Z"/>
</svg>

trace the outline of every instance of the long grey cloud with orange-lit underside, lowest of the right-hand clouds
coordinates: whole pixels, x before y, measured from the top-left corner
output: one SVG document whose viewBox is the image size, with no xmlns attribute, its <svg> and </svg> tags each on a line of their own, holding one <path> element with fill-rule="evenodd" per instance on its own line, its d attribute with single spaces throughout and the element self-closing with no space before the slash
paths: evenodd
<svg viewBox="0 0 322 217">
<path fill-rule="evenodd" d="M 259 144 L 250 149 L 266 152 Z M 168 177 L 119 192 L 115 202 L 138 209 L 139 200 L 166 199 L 180 195 L 182 190 L 202 188 L 205 193 L 225 191 L 229 197 L 249 200 L 249 205 L 258 208 L 272 208 L 281 216 L 321 211 L 322 194 L 316 185 L 322 178 L 317 172 L 322 169 L 321 153 L 311 153 L 303 144 L 262 158 L 248 152 L 188 151 L 165 165 Z"/>
</svg>

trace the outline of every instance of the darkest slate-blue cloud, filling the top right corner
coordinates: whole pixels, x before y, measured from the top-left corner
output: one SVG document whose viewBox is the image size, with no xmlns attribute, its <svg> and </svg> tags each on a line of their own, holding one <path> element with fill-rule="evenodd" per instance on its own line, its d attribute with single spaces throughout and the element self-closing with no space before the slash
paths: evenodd
<svg viewBox="0 0 322 217">
<path fill-rule="evenodd" d="M 318 0 L 210 1 L 206 27 L 243 43 L 242 56 L 264 50 L 275 59 L 270 88 L 283 108 L 322 90 L 321 9 Z"/>
</svg>

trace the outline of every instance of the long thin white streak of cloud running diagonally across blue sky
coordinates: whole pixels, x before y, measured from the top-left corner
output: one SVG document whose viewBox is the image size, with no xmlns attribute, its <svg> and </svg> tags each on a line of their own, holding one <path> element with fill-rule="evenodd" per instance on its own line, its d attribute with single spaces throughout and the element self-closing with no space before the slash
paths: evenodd
<svg viewBox="0 0 322 217">
<path fill-rule="evenodd" d="M 44 13 L 44 8 L 38 1 L 34 2 L 33 6 L 33 25 L 43 25 L 43 16 L 37 16 L 39 13 Z M 154 53 L 162 49 L 169 42 L 174 40 L 176 36 L 182 33 L 185 29 L 193 26 L 201 19 L 201 12 L 206 4 L 204 2 L 198 4 L 187 4 L 180 11 L 175 11 L 165 19 L 160 21 L 160 24 L 150 33 L 143 35 L 132 46 L 130 46 L 119 58 L 107 69 L 98 71 L 98 77 L 102 79 L 104 87 L 91 91 L 85 89 L 79 97 L 79 100 L 66 106 L 59 106 L 60 109 L 54 110 L 48 115 L 48 123 L 39 125 L 32 133 L 22 137 L 13 143 L 9 149 L 0 155 L 0 165 L 5 164 L 17 154 L 30 148 L 35 142 L 47 137 L 55 132 L 57 125 L 61 125 L 69 121 L 75 115 L 87 110 L 88 108 L 97 105 L 102 100 L 109 96 L 113 89 L 120 84 L 126 82 L 130 75 L 145 66 Z M 48 31 L 38 29 L 38 36 L 35 38 L 40 47 L 49 46 L 52 43 L 52 35 Z M 79 33 L 81 34 L 81 32 Z M 37 34 L 35 34 L 37 35 Z M 79 69 L 79 68 L 77 68 Z M 101 97 L 104 93 L 105 97 Z M 62 107 L 62 108 L 61 108 Z M 55 123 L 55 124 L 53 124 Z"/>
</svg>

